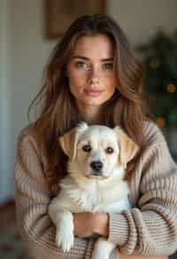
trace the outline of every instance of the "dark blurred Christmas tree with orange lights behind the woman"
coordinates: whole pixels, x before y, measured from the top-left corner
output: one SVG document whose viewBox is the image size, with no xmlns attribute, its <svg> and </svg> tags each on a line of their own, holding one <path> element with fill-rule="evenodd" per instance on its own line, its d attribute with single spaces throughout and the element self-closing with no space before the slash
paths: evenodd
<svg viewBox="0 0 177 259">
<path fill-rule="evenodd" d="M 177 30 L 160 31 L 139 45 L 144 64 L 144 86 L 160 127 L 177 127 Z"/>
</svg>

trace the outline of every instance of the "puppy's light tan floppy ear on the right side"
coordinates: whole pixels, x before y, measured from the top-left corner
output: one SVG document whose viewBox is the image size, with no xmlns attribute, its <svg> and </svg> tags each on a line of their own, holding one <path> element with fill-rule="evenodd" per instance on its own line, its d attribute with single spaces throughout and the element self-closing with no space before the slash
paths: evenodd
<svg viewBox="0 0 177 259">
<path fill-rule="evenodd" d="M 113 130 L 115 131 L 119 142 L 120 163 L 126 168 L 127 162 L 131 161 L 139 151 L 139 146 L 119 127 L 115 127 Z"/>
</svg>

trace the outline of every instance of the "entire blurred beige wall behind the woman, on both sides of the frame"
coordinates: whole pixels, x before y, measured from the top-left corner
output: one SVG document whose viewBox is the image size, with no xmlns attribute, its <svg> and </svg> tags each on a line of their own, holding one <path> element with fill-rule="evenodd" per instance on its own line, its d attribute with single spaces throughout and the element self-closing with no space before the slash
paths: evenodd
<svg viewBox="0 0 177 259">
<path fill-rule="evenodd" d="M 17 136 L 27 124 L 27 106 L 41 85 L 42 70 L 55 43 L 43 37 L 42 3 L 42 0 L 0 0 L 0 53 L 4 53 L 0 63 L 3 76 L 0 173 L 4 180 L 0 182 L 0 190 L 4 183 L 12 183 Z M 176 0 L 107 0 L 107 5 L 108 13 L 119 21 L 134 45 L 148 40 L 158 27 L 166 31 L 177 27 Z M 1 195 L 0 191 L 4 199 L 8 195 L 11 193 Z"/>
</svg>

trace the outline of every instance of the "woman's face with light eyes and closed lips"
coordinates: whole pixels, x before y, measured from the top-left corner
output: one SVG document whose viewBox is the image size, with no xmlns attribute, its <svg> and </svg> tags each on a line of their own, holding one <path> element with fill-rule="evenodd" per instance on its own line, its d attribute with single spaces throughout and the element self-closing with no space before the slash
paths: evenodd
<svg viewBox="0 0 177 259">
<path fill-rule="evenodd" d="M 66 72 L 78 106 L 99 107 L 112 97 L 116 87 L 113 58 L 108 36 L 86 35 L 78 40 Z"/>
</svg>

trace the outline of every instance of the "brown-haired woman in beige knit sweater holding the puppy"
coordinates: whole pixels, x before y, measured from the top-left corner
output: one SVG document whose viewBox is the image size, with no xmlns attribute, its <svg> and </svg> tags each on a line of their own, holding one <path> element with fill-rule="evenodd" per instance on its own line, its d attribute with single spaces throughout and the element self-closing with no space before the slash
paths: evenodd
<svg viewBox="0 0 177 259">
<path fill-rule="evenodd" d="M 175 251 L 177 167 L 147 118 L 141 81 L 126 35 L 105 15 L 75 20 L 52 52 L 35 98 L 41 114 L 22 130 L 15 166 L 19 228 L 34 258 L 90 258 L 95 233 L 117 244 L 119 258 L 159 259 Z M 74 214 L 74 247 L 64 254 L 55 245 L 48 207 L 66 174 L 58 137 L 81 121 L 120 125 L 141 152 L 127 166 L 131 211 Z"/>
</svg>

